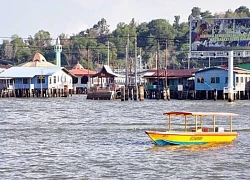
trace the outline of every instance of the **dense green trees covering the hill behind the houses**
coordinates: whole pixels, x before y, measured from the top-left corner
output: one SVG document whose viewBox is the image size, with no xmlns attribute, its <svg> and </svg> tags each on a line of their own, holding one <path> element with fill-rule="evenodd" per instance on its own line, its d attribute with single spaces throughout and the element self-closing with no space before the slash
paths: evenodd
<svg viewBox="0 0 250 180">
<path fill-rule="evenodd" d="M 249 9 L 240 6 L 235 11 L 212 14 L 193 7 L 190 17 L 228 18 L 250 17 Z M 60 35 L 62 52 L 62 66 L 72 67 L 78 61 L 87 68 L 96 69 L 102 64 L 109 64 L 120 68 L 125 65 L 126 46 L 128 44 L 129 65 L 132 66 L 135 52 L 142 56 L 143 64 L 154 68 L 156 52 L 159 52 L 160 68 L 185 68 L 189 50 L 189 23 L 180 22 L 180 16 L 174 16 L 174 23 L 166 19 L 155 19 L 150 22 L 136 23 L 134 19 L 129 24 L 120 22 L 114 31 L 110 32 L 107 21 L 102 18 L 92 28 L 83 30 L 68 37 Z M 42 53 L 48 61 L 55 63 L 54 42 L 50 33 L 38 31 L 34 37 L 22 38 L 13 35 L 11 39 L 3 39 L 0 45 L 1 64 L 19 64 L 29 61 L 35 52 Z M 109 48 L 108 48 L 109 47 Z M 137 47 L 137 48 L 135 48 Z M 109 49 L 109 51 L 108 51 Z M 109 54 L 108 54 L 109 52 Z M 197 60 L 191 61 L 191 67 L 204 66 Z"/>
</svg>

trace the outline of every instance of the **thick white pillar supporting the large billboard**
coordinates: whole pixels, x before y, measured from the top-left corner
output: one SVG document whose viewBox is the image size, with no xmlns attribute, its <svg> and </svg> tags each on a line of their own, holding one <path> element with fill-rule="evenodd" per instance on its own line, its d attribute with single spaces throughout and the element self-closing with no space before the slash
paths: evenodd
<svg viewBox="0 0 250 180">
<path fill-rule="evenodd" d="M 234 101 L 234 85 L 233 85 L 233 59 L 234 53 L 228 53 L 228 102 Z"/>
</svg>

